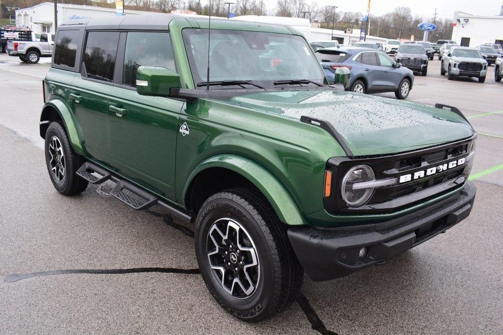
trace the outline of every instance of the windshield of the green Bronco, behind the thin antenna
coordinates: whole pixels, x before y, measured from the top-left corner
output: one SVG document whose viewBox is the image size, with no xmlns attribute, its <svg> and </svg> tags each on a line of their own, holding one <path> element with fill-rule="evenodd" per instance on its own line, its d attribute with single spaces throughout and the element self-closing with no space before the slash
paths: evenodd
<svg viewBox="0 0 503 335">
<path fill-rule="evenodd" d="M 207 80 L 208 30 L 184 29 L 182 36 L 197 86 Z M 311 48 L 301 36 L 214 29 L 209 58 L 210 81 L 247 80 L 274 87 L 278 80 L 307 79 L 323 84 L 325 79 Z M 211 87 L 219 88 L 229 86 Z"/>
</svg>

